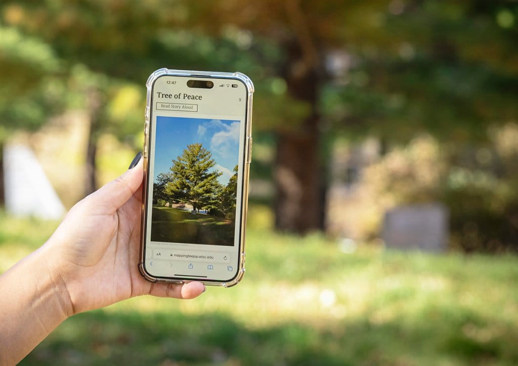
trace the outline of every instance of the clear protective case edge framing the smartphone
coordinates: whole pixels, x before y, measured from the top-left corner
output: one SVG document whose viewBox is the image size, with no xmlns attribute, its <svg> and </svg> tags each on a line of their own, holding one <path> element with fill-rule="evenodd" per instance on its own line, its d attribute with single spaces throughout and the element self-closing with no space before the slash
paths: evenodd
<svg viewBox="0 0 518 366">
<path fill-rule="evenodd" d="M 188 70 L 172 70 L 167 68 L 162 68 L 154 71 L 151 75 L 149 75 L 148 81 L 146 82 L 147 87 L 147 97 L 146 97 L 146 112 L 145 112 L 145 127 L 144 127 L 144 149 L 143 149 L 143 157 L 144 157 L 144 179 L 147 182 L 148 179 L 148 167 L 149 167 L 149 131 L 150 131 L 150 119 L 151 119 L 151 97 L 152 97 L 152 87 L 154 82 L 164 76 L 164 75 L 172 75 L 172 76 L 180 76 L 180 77 L 206 77 L 206 78 L 221 78 L 221 79 L 235 79 L 241 81 L 247 87 L 247 106 L 246 106 L 246 118 L 245 118 L 245 131 L 246 136 L 244 139 L 244 164 L 243 164 L 243 182 L 242 182 L 242 202 L 241 202 L 241 218 L 239 219 L 240 225 L 240 242 L 239 242 L 239 263 L 238 263 L 238 271 L 236 277 L 232 280 L 226 282 L 215 282 L 215 281 L 202 281 L 206 285 L 212 286 L 223 286 L 223 287 L 231 287 L 239 283 L 244 276 L 244 261 L 245 261 L 245 226 L 247 221 L 247 209 L 248 209 L 248 176 L 250 172 L 250 161 L 251 161 L 251 137 L 252 137 L 252 94 L 254 92 L 254 85 L 247 75 L 240 72 L 210 72 L 210 71 L 188 71 Z M 151 282 L 165 282 L 165 283 L 184 283 L 190 281 L 199 281 L 198 279 L 192 280 L 177 280 L 177 279 L 163 279 L 156 278 L 151 276 L 144 267 L 144 259 L 145 259 L 145 225 L 146 225 L 146 202 L 147 202 L 147 184 L 143 186 L 142 190 L 142 219 L 140 224 L 140 262 L 138 264 L 138 269 L 141 275 Z M 236 224 L 237 218 L 236 218 Z"/>
</svg>

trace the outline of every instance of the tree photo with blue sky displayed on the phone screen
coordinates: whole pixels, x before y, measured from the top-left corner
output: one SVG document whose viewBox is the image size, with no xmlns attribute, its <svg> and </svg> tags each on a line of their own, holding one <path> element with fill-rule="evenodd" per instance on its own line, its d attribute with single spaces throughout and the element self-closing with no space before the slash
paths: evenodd
<svg viewBox="0 0 518 366">
<path fill-rule="evenodd" d="M 239 126 L 156 118 L 152 241 L 234 245 Z"/>
</svg>

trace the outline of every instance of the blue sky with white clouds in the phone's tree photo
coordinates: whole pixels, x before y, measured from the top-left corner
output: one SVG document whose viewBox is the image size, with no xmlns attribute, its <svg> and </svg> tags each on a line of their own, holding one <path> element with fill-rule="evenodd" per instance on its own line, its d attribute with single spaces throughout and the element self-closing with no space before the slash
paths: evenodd
<svg viewBox="0 0 518 366">
<path fill-rule="evenodd" d="M 239 121 L 227 119 L 156 117 L 154 180 L 169 173 L 172 159 L 182 155 L 187 145 L 202 143 L 212 153 L 221 184 L 234 174 L 239 154 Z"/>
</svg>

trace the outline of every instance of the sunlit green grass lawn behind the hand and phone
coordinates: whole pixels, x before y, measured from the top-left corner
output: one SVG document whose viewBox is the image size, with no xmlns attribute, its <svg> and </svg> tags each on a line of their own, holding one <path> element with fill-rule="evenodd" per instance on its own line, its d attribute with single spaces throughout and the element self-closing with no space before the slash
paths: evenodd
<svg viewBox="0 0 518 366">
<path fill-rule="evenodd" d="M 55 226 L 1 216 L 0 271 Z M 251 227 L 236 287 L 76 315 L 21 364 L 518 364 L 517 284 L 516 256 L 346 254 Z"/>
</svg>

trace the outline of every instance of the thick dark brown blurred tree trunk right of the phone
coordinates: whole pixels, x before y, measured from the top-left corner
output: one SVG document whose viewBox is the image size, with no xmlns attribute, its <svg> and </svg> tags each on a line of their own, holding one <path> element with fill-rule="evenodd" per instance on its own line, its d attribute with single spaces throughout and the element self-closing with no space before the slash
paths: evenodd
<svg viewBox="0 0 518 366">
<path fill-rule="evenodd" d="M 309 113 L 296 128 L 278 133 L 275 160 L 275 225 L 277 230 L 299 234 L 324 225 L 324 190 L 319 157 L 321 75 L 318 62 L 308 62 L 300 43 L 287 45 L 289 60 L 283 77 L 288 93 L 309 105 Z M 286 105 L 286 108 L 290 108 Z"/>
</svg>

